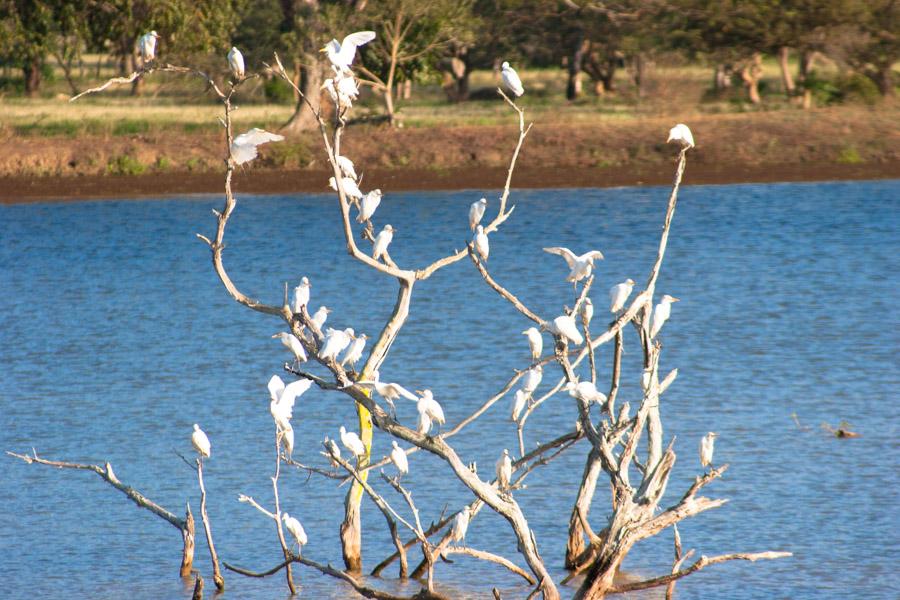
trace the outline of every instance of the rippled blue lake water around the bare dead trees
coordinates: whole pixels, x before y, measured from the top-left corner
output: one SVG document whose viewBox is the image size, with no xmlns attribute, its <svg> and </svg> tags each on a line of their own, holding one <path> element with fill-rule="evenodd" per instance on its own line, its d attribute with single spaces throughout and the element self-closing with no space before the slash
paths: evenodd
<svg viewBox="0 0 900 600">
<path fill-rule="evenodd" d="M 690 181 L 690 167 L 687 180 Z M 481 192 L 388 193 L 376 214 L 399 232 L 391 246 L 421 266 L 468 238 L 467 209 Z M 655 257 L 664 188 L 514 191 L 516 211 L 491 236 L 492 272 L 545 317 L 572 303 L 561 258 L 543 246 L 602 250 L 592 292 L 606 318 L 606 290 L 646 280 Z M 489 210 L 496 195 L 489 194 Z M 272 421 L 266 381 L 287 353 L 270 336 L 279 321 L 233 302 L 196 232 L 210 235 L 217 197 L 0 207 L 0 448 L 103 463 L 177 514 L 199 507 L 189 453 L 191 424 L 212 441 L 209 513 L 220 556 L 263 570 L 279 560 L 271 523 L 237 502 L 271 502 Z M 489 213 L 489 215 L 492 213 Z M 226 266 L 251 296 L 280 304 L 285 281 L 313 282 L 311 304 L 334 309 L 330 325 L 377 334 L 396 284 L 343 251 L 338 213 L 326 196 L 239 198 Z M 678 586 L 679 598 L 896 598 L 900 594 L 900 181 L 688 186 L 682 190 L 658 291 L 678 296 L 663 329 L 661 371 L 680 375 L 663 398 L 666 439 L 678 462 L 664 505 L 700 472 L 697 444 L 720 434 L 716 462 L 731 465 L 706 495 L 731 501 L 684 522 L 697 554 L 788 550 L 794 558 L 709 567 Z M 382 368 L 385 380 L 430 387 L 450 424 L 527 363 L 528 322 L 491 292 L 466 260 L 416 286 L 412 316 Z M 621 400 L 639 395 L 640 351 L 629 330 Z M 611 348 L 598 353 L 608 378 Z M 547 369 L 545 389 L 559 372 Z M 401 401 L 402 402 L 402 401 Z M 506 400 L 452 440 L 466 461 L 490 471 L 516 447 Z M 414 406 L 399 406 L 413 423 Z M 804 431 L 792 420 L 809 426 Z M 353 428 L 338 394 L 312 390 L 295 411 L 295 456 L 322 465 L 325 435 Z M 559 396 L 529 420 L 526 444 L 575 419 Z M 848 421 L 857 439 L 820 428 Z M 376 434 L 375 454 L 390 448 Z M 565 528 L 587 443 L 531 476 L 517 492 L 540 551 L 558 579 Z M 417 453 L 407 478 L 423 521 L 468 499 L 437 459 Z M 8 598 L 189 598 L 177 577 L 181 539 L 91 473 L 0 459 L 0 573 Z M 601 477 L 601 482 L 603 481 Z M 382 482 L 379 489 L 385 487 Z M 340 564 L 337 530 L 346 488 L 302 472 L 283 476 L 284 510 L 299 517 L 304 555 Z M 387 494 L 389 501 L 402 501 Z M 591 513 L 602 528 L 608 494 Z M 364 504 L 364 562 L 392 548 L 382 516 Z M 211 590 L 198 521 L 196 566 Z M 488 511 L 467 536 L 476 548 L 516 554 L 505 521 Z M 639 545 L 625 568 L 655 576 L 671 566 L 671 532 Z M 413 552 L 411 557 L 418 557 Z M 411 558 L 414 560 L 414 558 Z M 390 570 L 391 576 L 396 570 Z M 227 598 L 282 598 L 282 576 L 225 573 Z M 504 598 L 528 588 L 486 563 L 457 557 L 437 567 L 439 590 Z M 348 589 L 299 571 L 306 598 Z M 374 582 L 390 588 L 389 582 Z M 414 588 L 408 588 L 412 590 Z M 571 594 L 564 589 L 564 595 Z"/>
</svg>

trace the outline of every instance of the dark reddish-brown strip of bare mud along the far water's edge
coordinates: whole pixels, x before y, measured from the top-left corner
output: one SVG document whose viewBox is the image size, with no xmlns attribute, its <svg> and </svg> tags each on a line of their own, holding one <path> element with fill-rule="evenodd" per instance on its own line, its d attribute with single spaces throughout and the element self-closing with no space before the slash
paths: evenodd
<svg viewBox="0 0 900 600">
<path fill-rule="evenodd" d="M 668 185 L 674 163 L 635 167 L 585 168 L 519 166 L 513 189 L 594 188 Z M 322 170 L 248 170 L 236 172 L 237 194 L 328 193 Z M 863 164 L 694 164 L 688 161 L 684 185 L 857 181 L 900 178 L 900 161 Z M 385 193 L 463 189 L 501 189 L 505 168 L 372 169 L 367 189 Z M 75 202 L 102 199 L 171 198 L 223 192 L 222 173 L 173 172 L 152 175 L 2 176 L 0 204 Z"/>
</svg>

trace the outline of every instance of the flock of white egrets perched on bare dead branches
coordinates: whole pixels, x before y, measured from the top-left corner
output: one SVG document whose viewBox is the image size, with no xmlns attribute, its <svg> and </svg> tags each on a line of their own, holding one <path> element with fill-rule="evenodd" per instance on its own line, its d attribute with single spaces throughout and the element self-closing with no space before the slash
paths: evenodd
<svg viewBox="0 0 900 600">
<path fill-rule="evenodd" d="M 138 40 L 138 48 L 144 64 L 147 68 L 156 59 L 156 42 L 159 35 L 155 31 L 151 31 Z M 339 109 L 347 109 L 353 105 L 356 100 L 359 89 L 353 71 L 350 69 L 356 57 L 357 49 L 375 39 L 375 33 L 372 31 L 358 31 L 345 37 L 342 42 L 333 39 L 322 48 L 322 52 L 326 54 L 331 63 L 334 77 L 325 81 L 322 89 L 326 90 Z M 231 69 L 235 82 L 244 79 L 245 65 L 244 57 L 240 50 L 232 47 L 227 55 L 228 65 Z M 501 70 L 501 78 L 503 85 L 518 98 L 525 93 L 522 81 L 519 79 L 515 69 L 508 62 L 504 62 Z M 234 138 L 231 144 L 231 159 L 234 164 L 241 165 L 256 158 L 258 152 L 257 147 L 269 142 L 282 141 L 283 136 L 269 133 L 265 130 L 253 128 L 246 133 L 240 134 Z M 694 138 L 691 130 L 684 124 L 679 123 L 669 132 L 667 142 L 679 144 L 682 148 L 692 148 L 694 146 Z M 357 175 L 353 162 L 345 156 L 336 156 L 335 165 L 337 171 L 341 174 L 339 179 L 332 177 L 329 180 L 331 188 L 335 191 L 343 191 L 343 194 L 353 202 L 359 210 L 357 222 L 370 223 L 376 209 L 381 204 L 382 192 L 379 189 L 373 189 L 368 193 L 363 193 L 359 188 L 359 177 Z M 487 261 L 490 255 L 490 242 L 487 232 L 480 224 L 484 217 L 488 201 L 486 198 L 472 203 L 469 208 L 469 228 L 474 232 L 472 243 L 481 260 Z M 391 244 L 396 229 L 390 224 L 385 225 L 382 230 L 375 236 L 373 240 L 372 258 L 375 260 L 388 260 L 388 246 Z M 564 247 L 544 248 L 545 252 L 561 256 L 566 261 L 569 269 L 566 281 L 577 284 L 577 282 L 590 277 L 594 269 L 594 261 L 603 260 L 603 254 L 599 250 L 590 250 L 581 255 L 576 255 L 573 251 Z M 609 290 L 610 312 L 618 314 L 624 307 L 628 298 L 631 296 L 635 282 L 627 279 L 622 283 L 618 283 Z M 302 313 L 306 311 L 309 305 L 312 284 L 307 277 L 300 280 L 300 284 L 294 288 L 293 298 L 291 302 L 291 310 L 294 313 Z M 663 324 L 668 320 L 672 303 L 678 302 L 678 298 L 674 298 L 668 294 L 664 295 L 652 312 L 650 323 L 650 336 L 656 337 Z M 316 334 L 323 334 L 320 344 L 318 344 L 317 356 L 323 361 L 333 361 L 342 368 L 350 366 L 356 369 L 357 363 L 361 360 L 363 351 L 365 350 L 366 340 L 365 334 L 356 335 L 355 331 L 348 327 L 345 329 L 328 328 L 322 330 L 331 312 L 325 306 L 320 306 L 315 313 L 310 316 L 309 322 L 317 332 L 302 332 L 305 340 L 311 347 L 316 347 Z M 587 328 L 593 317 L 593 304 L 590 298 L 585 298 L 580 312 L 582 325 Z M 572 343 L 581 345 L 584 343 L 584 337 L 579 331 L 575 321 L 574 314 L 563 314 L 551 321 L 544 323 L 541 329 L 549 331 L 553 335 L 558 336 L 564 343 Z M 526 407 L 529 407 L 534 400 L 534 393 L 541 384 L 543 378 L 543 367 L 541 363 L 541 355 L 543 352 L 543 337 L 541 332 L 535 327 L 529 327 L 522 332 L 528 339 L 531 360 L 533 365 L 525 372 L 522 377 L 522 387 L 516 390 L 513 396 L 512 409 L 510 411 L 511 420 L 518 423 L 521 415 L 523 415 Z M 291 352 L 294 357 L 294 365 L 306 362 L 308 355 L 303 341 L 291 332 L 279 332 L 272 336 L 278 338 L 282 344 Z M 312 386 L 313 381 L 310 379 L 299 379 L 289 384 L 278 376 L 273 375 L 269 380 L 267 387 L 269 390 L 269 412 L 275 422 L 276 436 L 279 443 L 284 447 L 288 457 L 293 453 L 294 449 L 294 430 L 291 425 L 293 418 L 294 404 L 300 396 L 306 393 Z M 418 412 L 418 422 L 416 431 L 422 435 L 430 434 L 432 427 L 437 424 L 444 425 L 444 410 L 440 403 L 434 398 L 431 390 L 425 389 L 412 393 L 398 383 L 386 383 L 380 380 L 378 371 L 374 371 L 370 379 L 365 380 L 358 377 L 352 384 L 363 390 L 376 392 L 390 407 L 391 417 L 397 418 L 397 411 L 394 401 L 398 398 L 406 398 L 416 403 Z M 592 381 L 573 381 L 569 382 L 564 388 L 568 393 L 579 400 L 586 403 L 597 404 L 601 410 L 606 407 L 606 395 L 597 390 L 596 385 Z M 712 464 L 713 445 L 716 438 L 715 433 L 707 434 L 700 443 L 700 460 L 705 467 Z M 365 457 L 369 452 L 366 444 L 354 431 L 347 431 L 344 426 L 340 427 L 339 437 L 341 444 L 347 449 L 354 458 Z M 198 424 L 194 424 L 193 433 L 191 434 L 191 444 L 200 455 L 200 458 L 209 458 L 211 456 L 211 446 L 206 433 Z M 328 437 L 324 440 L 326 448 L 325 455 L 331 460 L 333 465 L 338 464 L 341 458 L 340 447 Z M 390 452 L 390 460 L 397 469 L 397 479 L 409 472 L 409 461 L 407 451 L 405 451 L 396 440 L 391 442 L 392 449 Z M 510 457 L 509 450 L 504 449 L 503 454 L 496 463 L 496 476 L 498 489 L 501 491 L 508 490 L 511 485 L 513 473 L 513 462 Z M 451 530 L 451 537 L 456 542 L 465 539 L 466 531 L 469 525 L 471 512 L 469 507 L 465 507 L 455 517 Z M 282 513 L 282 521 L 285 528 L 294 538 L 299 548 L 306 545 L 307 535 L 303 529 L 303 525 L 296 518 L 291 517 L 287 512 Z"/>
</svg>

